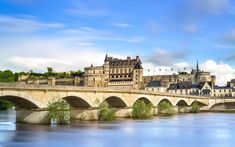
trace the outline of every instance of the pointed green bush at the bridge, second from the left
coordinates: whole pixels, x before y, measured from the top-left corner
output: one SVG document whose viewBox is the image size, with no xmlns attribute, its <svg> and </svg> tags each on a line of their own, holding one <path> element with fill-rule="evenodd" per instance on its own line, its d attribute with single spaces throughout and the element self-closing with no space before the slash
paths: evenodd
<svg viewBox="0 0 235 147">
<path fill-rule="evenodd" d="M 98 118 L 100 121 L 112 121 L 115 118 L 116 109 L 110 108 L 107 102 L 103 102 L 99 107 Z"/>
</svg>

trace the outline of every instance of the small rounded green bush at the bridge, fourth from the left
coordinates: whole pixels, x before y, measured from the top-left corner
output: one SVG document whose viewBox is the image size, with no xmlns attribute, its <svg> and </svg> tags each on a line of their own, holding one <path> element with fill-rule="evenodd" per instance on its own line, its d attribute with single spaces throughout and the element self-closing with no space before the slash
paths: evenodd
<svg viewBox="0 0 235 147">
<path fill-rule="evenodd" d="M 163 115 L 173 115 L 175 113 L 175 110 L 170 102 L 162 101 L 158 105 L 158 113 Z"/>
</svg>

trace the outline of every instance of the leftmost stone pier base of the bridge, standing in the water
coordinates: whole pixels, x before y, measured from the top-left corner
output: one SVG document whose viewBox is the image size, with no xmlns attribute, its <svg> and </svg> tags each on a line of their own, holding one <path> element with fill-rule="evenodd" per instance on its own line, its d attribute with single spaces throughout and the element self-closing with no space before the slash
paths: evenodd
<svg viewBox="0 0 235 147">
<path fill-rule="evenodd" d="M 16 110 L 17 123 L 45 124 L 48 111 L 45 110 Z"/>
</svg>

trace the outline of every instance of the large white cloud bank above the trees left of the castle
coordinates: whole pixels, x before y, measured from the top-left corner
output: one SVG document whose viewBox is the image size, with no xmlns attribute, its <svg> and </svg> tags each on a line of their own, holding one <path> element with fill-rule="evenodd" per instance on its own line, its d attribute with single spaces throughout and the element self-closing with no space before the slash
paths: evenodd
<svg viewBox="0 0 235 147">
<path fill-rule="evenodd" d="M 73 41 L 72 41 L 73 42 Z M 57 71 L 83 70 L 102 65 L 106 52 L 99 47 L 74 46 L 70 39 L 23 38 L 0 40 L 1 67 L 16 71 L 45 71 L 51 66 Z M 17 46 L 16 46 L 17 44 Z M 123 57 L 109 52 L 115 57 Z M 5 68 L 6 69 L 6 68 Z M 3 70 L 3 69 L 1 69 Z"/>
</svg>

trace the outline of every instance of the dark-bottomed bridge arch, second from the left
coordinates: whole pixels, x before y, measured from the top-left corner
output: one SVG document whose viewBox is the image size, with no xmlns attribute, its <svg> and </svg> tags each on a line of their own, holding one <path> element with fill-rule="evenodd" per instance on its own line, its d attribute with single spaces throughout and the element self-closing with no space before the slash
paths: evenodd
<svg viewBox="0 0 235 147">
<path fill-rule="evenodd" d="M 73 108 L 87 109 L 92 107 L 88 101 L 78 96 L 66 96 L 62 99 L 65 100 Z"/>
</svg>

